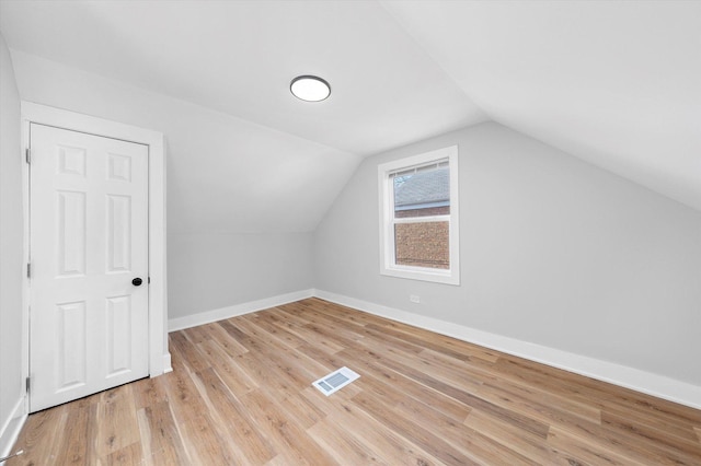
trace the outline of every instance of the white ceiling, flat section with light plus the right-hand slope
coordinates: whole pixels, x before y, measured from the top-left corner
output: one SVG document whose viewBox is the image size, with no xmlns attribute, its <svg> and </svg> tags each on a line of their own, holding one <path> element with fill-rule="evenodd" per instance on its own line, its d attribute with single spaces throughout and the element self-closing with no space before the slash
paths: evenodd
<svg viewBox="0 0 701 466">
<path fill-rule="evenodd" d="M 1 0 L 0 32 L 361 156 L 494 120 L 701 210 L 701 2 Z"/>
</svg>

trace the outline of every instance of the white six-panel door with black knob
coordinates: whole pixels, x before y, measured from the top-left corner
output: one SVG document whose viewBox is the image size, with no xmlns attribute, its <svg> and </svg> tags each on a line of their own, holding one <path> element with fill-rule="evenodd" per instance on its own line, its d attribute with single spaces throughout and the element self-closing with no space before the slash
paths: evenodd
<svg viewBox="0 0 701 466">
<path fill-rule="evenodd" d="M 30 126 L 30 410 L 148 375 L 148 147 Z"/>
</svg>

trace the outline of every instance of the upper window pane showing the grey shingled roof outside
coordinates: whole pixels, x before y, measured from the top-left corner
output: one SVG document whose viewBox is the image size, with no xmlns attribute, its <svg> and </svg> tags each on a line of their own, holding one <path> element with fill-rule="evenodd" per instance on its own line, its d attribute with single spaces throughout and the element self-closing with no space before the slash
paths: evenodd
<svg viewBox="0 0 701 466">
<path fill-rule="evenodd" d="M 393 176 L 394 218 L 450 213 L 450 168 L 434 165 Z"/>
</svg>

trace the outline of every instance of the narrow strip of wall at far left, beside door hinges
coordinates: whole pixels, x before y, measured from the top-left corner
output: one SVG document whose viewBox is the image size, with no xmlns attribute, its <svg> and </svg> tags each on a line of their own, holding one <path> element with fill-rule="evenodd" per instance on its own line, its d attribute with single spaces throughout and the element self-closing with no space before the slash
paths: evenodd
<svg viewBox="0 0 701 466">
<path fill-rule="evenodd" d="M 0 457 L 24 415 L 21 154 L 20 94 L 10 50 L 0 36 Z"/>
</svg>

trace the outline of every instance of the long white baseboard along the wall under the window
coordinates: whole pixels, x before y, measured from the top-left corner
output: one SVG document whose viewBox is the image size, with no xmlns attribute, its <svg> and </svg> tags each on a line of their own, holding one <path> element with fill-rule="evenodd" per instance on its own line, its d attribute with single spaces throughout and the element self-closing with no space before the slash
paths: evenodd
<svg viewBox="0 0 701 466">
<path fill-rule="evenodd" d="M 356 300 L 341 294 L 330 293 L 327 291 L 314 290 L 314 295 L 333 303 L 354 307 L 392 321 L 425 328 L 437 334 L 447 335 L 530 361 L 540 362 L 553 368 L 563 369 L 587 377 L 701 409 L 701 386 L 687 382 L 363 300 Z"/>
</svg>

